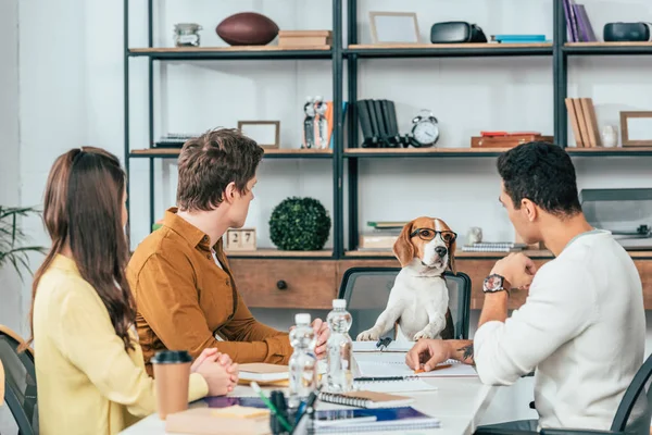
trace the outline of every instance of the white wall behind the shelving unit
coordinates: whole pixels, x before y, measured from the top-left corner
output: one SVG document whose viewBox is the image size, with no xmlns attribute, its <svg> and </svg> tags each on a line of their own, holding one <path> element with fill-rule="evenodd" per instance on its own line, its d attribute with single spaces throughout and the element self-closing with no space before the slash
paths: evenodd
<svg viewBox="0 0 652 435">
<path fill-rule="evenodd" d="M 171 45 L 173 23 L 192 21 L 204 27 L 203 46 L 223 45 L 215 36 L 215 26 L 242 10 L 262 12 L 283 29 L 330 28 L 329 3 L 161 1 L 156 2 L 155 42 Z M 446 20 L 476 22 L 488 35 L 536 32 L 552 36 L 549 0 L 440 0 L 437 8 L 427 0 L 360 3 L 362 42 L 369 40 L 366 15 L 371 9 L 417 12 L 424 40 L 431 23 Z M 145 4 L 141 1 L 130 8 L 131 47 L 147 42 Z M 585 4 L 597 34 L 615 17 L 638 21 L 652 13 L 647 0 L 586 0 Z M 95 145 L 124 158 L 122 26 L 122 2 L 0 2 L 0 132 L 4 139 L 0 142 L 0 203 L 40 203 L 54 158 L 70 148 Z M 131 148 L 147 148 L 147 61 L 130 62 Z M 650 110 L 650 58 L 570 59 L 569 95 L 592 97 L 599 121 L 614 123 L 623 108 Z M 281 147 L 296 148 L 305 96 L 333 96 L 331 67 L 324 61 L 168 62 L 155 74 L 156 136 L 234 126 L 238 120 L 268 119 L 281 122 Z M 359 86 L 360 98 L 394 99 L 403 130 L 419 109 L 434 110 L 441 123 L 441 147 L 467 146 L 468 137 L 480 129 L 552 134 L 551 58 L 364 60 Z M 570 144 L 572 137 L 569 130 Z M 12 146 L 18 140 L 20 147 Z M 578 158 L 578 182 L 580 188 L 607 184 L 652 187 L 650 162 L 647 158 Z M 155 207 L 156 214 L 162 215 L 174 203 L 175 167 L 173 161 L 156 161 L 155 166 Z M 482 226 L 488 239 L 511 239 L 513 231 L 497 201 L 499 179 L 493 166 L 493 159 L 362 161 L 361 229 L 369 220 L 432 214 L 447 220 L 461 234 L 469 226 Z M 148 234 L 147 167 L 147 161 L 131 160 L 134 246 Z M 259 177 L 247 225 L 259 229 L 260 246 L 271 246 L 268 216 L 284 198 L 313 196 L 333 209 L 327 161 L 264 161 Z M 37 241 L 49 243 L 40 222 L 27 220 L 25 224 Z M 38 261 L 35 259 L 33 265 Z M 26 335 L 29 283 L 22 293 L 8 294 L 5 275 L 0 276 L 0 323 Z M 11 287 L 17 289 L 20 285 Z M 291 320 L 290 311 L 255 313 L 279 327 L 287 327 Z M 515 398 L 515 406 L 529 400 Z"/>
</svg>

